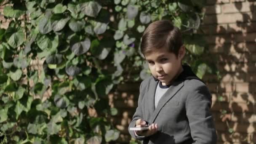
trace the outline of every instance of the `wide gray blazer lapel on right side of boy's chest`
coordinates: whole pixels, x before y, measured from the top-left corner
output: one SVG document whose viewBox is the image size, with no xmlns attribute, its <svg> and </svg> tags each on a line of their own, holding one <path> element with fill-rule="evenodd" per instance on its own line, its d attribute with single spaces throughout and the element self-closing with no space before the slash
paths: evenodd
<svg viewBox="0 0 256 144">
<path fill-rule="evenodd" d="M 159 100 L 157 107 L 152 115 L 152 117 L 149 120 L 149 123 L 152 124 L 155 122 L 155 119 L 160 112 L 160 110 L 163 108 L 163 106 L 183 87 L 184 82 L 179 81 L 179 82 L 174 82 L 173 85 L 166 91 L 166 93 L 161 97 Z M 154 93 L 155 96 L 155 93 Z M 154 97 L 153 97 L 154 99 Z M 155 107 L 155 104 L 153 105 Z"/>
</svg>

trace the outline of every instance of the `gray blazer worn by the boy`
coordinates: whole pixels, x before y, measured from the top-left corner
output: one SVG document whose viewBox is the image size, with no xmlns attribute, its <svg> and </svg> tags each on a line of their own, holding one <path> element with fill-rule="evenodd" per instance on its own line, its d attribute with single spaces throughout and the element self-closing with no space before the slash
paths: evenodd
<svg viewBox="0 0 256 144">
<path fill-rule="evenodd" d="M 158 131 L 144 138 L 129 131 L 131 136 L 143 140 L 143 144 L 216 144 L 211 94 L 206 85 L 196 79 L 175 81 L 155 108 L 157 83 L 153 77 L 141 83 L 138 107 L 129 128 L 142 119 L 157 123 Z"/>
</svg>

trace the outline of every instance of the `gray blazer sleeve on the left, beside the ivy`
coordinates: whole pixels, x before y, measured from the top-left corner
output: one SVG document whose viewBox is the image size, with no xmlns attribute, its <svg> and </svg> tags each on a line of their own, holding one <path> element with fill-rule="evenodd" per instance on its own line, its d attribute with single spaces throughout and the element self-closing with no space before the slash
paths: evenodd
<svg viewBox="0 0 256 144">
<path fill-rule="evenodd" d="M 142 94 L 143 93 L 142 85 L 143 85 L 143 82 L 141 82 L 141 85 L 139 88 L 140 94 L 139 94 L 139 99 L 138 99 L 138 107 L 136 108 L 136 111 L 133 115 L 133 119 L 131 120 L 131 123 L 129 124 L 128 131 L 129 131 L 129 128 L 136 126 L 136 120 L 138 120 L 138 119 L 143 120 L 143 114 L 142 114 L 142 109 L 141 109 L 142 103 L 141 102 L 142 102 L 144 94 Z M 143 140 L 145 138 L 145 136 L 136 136 L 134 131 L 129 131 L 129 133 L 134 139 Z"/>
</svg>

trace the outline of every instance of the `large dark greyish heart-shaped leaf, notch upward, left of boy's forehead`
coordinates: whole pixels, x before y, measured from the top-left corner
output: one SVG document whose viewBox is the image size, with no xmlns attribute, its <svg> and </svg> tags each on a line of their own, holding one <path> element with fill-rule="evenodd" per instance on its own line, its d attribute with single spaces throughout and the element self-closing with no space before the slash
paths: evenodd
<svg viewBox="0 0 256 144">
<path fill-rule="evenodd" d="M 89 50 L 91 46 L 91 40 L 86 37 L 84 41 L 77 41 L 76 37 L 74 37 L 70 44 L 71 51 L 75 53 L 75 55 L 79 56 Z"/>
</svg>

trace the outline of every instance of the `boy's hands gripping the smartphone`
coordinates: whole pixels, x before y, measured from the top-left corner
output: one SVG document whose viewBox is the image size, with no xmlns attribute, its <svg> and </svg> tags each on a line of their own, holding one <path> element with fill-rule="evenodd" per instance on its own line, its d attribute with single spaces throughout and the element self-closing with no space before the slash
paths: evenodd
<svg viewBox="0 0 256 144">
<path fill-rule="evenodd" d="M 144 120 L 136 120 L 136 127 L 146 127 L 146 122 Z M 136 133 L 140 136 L 151 136 L 157 132 L 157 124 L 152 123 L 149 125 L 149 129 L 145 131 L 136 131 Z"/>
</svg>

